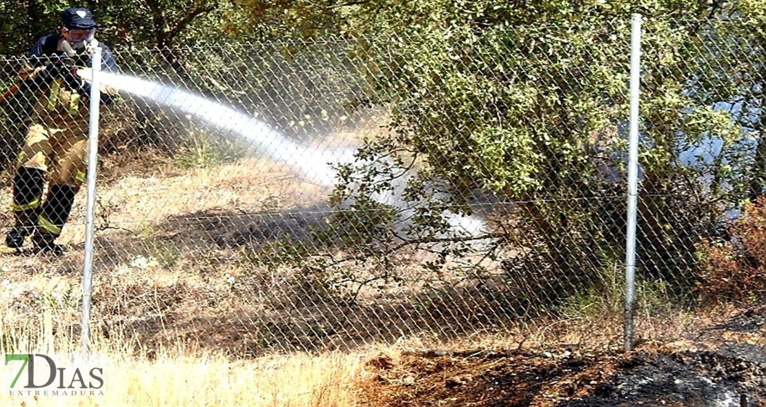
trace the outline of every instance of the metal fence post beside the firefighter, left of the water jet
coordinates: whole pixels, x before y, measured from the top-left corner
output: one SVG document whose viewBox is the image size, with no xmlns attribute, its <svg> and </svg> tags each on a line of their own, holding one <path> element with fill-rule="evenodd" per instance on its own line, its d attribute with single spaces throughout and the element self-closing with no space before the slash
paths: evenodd
<svg viewBox="0 0 766 407">
<path fill-rule="evenodd" d="M 90 291 L 93 288 L 93 218 L 96 205 L 96 164 L 98 159 L 99 71 L 101 70 L 101 47 L 91 54 L 90 81 L 90 132 L 88 136 L 87 201 L 85 213 L 85 262 L 83 265 L 83 319 L 82 352 L 90 352 Z"/>
</svg>

